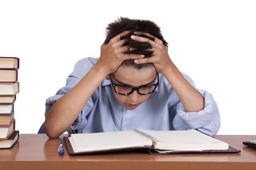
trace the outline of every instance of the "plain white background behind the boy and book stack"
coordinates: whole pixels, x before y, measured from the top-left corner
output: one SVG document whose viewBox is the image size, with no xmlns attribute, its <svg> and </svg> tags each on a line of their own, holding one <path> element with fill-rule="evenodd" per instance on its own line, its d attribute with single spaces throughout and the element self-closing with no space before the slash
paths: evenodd
<svg viewBox="0 0 256 170">
<path fill-rule="evenodd" d="M 180 71 L 216 100 L 219 135 L 256 135 L 254 0 L 0 0 L 0 56 L 20 58 L 16 129 L 37 133 L 74 64 L 99 57 L 108 23 L 155 21 Z"/>
</svg>

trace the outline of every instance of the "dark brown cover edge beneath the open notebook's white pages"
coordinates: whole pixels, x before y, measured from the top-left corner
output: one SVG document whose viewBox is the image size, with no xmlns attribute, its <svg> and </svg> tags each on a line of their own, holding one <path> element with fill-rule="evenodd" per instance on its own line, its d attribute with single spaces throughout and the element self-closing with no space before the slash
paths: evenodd
<svg viewBox="0 0 256 170">
<path fill-rule="evenodd" d="M 190 150 L 190 151 L 173 151 L 166 153 L 159 153 L 155 149 L 150 147 L 130 147 L 130 148 L 121 148 L 121 149 L 108 149 L 108 150 L 96 150 L 96 151 L 88 151 L 88 152 L 74 152 L 68 137 L 63 137 L 64 143 L 70 155 L 80 155 L 80 154 L 93 154 L 93 153 L 102 153 L 102 152 L 115 152 L 122 150 L 136 150 L 136 149 L 148 149 L 150 154 L 181 154 L 181 153 L 239 153 L 240 150 L 234 149 L 233 147 L 229 147 L 228 150 Z"/>
</svg>

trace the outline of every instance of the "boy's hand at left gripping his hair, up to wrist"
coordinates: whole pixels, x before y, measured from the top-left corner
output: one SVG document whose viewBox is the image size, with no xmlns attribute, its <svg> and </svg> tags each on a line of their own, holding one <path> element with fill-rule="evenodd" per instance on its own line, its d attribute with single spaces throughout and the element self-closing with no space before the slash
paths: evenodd
<svg viewBox="0 0 256 170">
<path fill-rule="evenodd" d="M 129 47 L 123 47 L 125 39 L 120 40 L 120 37 L 127 35 L 129 32 L 124 31 L 112 38 L 108 44 L 101 45 L 100 59 L 97 64 L 100 64 L 107 74 L 115 72 L 124 60 L 141 59 L 144 57 L 144 55 L 140 54 L 124 54 L 126 51 L 129 51 Z"/>
</svg>

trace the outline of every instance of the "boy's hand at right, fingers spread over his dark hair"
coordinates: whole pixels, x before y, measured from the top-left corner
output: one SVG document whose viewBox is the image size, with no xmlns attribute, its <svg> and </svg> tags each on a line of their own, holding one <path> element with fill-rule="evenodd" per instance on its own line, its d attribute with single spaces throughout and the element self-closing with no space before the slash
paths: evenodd
<svg viewBox="0 0 256 170">
<path fill-rule="evenodd" d="M 139 42 L 149 42 L 152 45 L 152 49 L 148 49 L 148 51 L 153 51 L 152 57 L 144 58 L 144 59 L 137 59 L 134 62 L 136 64 L 143 64 L 143 63 L 153 63 L 156 71 L 164 74 L 168 72 L 168 69 L 172 66 L 172 61 L 168 55 L 168 47 L 166 47 L 163 42 L 155 37 L 155 41 L 152 41 L 148 38 L 136 36 L 141 32 L 134 32 L 135 35 L 131 36 L 131 39 L 134 41 Z M 154 37 L 149 33 L 143 33 L 148 36 Z"/>
</svg>

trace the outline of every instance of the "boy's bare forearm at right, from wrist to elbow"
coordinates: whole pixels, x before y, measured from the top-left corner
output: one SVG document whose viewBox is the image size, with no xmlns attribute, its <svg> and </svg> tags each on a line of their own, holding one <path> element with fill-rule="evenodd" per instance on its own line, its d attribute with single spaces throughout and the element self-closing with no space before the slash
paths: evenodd
<svg viewBox="0 0 256 170">
<path fill-rule="evenodd" d="M 198 112 L 204 109 L 203 96 L 184 78 L 173 63 L 164 76 L 180 98 L 187 112 Z"/>
</svg>

